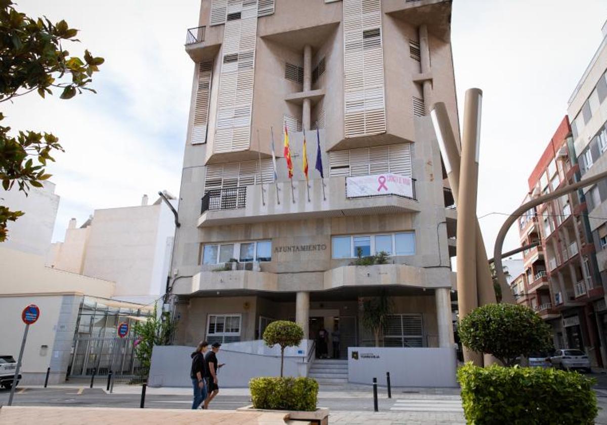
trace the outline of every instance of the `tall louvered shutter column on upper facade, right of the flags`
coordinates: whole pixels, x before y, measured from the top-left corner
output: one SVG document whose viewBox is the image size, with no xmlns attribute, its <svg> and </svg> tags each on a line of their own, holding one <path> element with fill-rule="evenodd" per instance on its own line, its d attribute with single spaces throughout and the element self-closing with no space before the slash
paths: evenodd
<svg viewBox="0 0 607 425">
<path fill-rule="evenodd" d="M 385 132 L 379 0 L 344 0 L 345 137 Z"/>
</svg>

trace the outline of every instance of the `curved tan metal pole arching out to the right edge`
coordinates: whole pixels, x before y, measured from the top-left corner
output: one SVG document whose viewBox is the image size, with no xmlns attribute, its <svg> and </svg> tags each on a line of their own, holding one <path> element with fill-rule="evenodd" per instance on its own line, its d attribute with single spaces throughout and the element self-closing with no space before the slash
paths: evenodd
<svg viewBox="0 0 607 425">
<path fill-rule="evenodd" d="M 506 234 L 508 233 L 510 226 L 512 226 L 514 222 L 517 221 L 518 217 L 522 216 L 524 213 L 529 211 L 529 209 L 534 208 L 534 206 L 538 206 L 541 203 L 548 202 L 552 199 L 557 199 L 558 197 L 569 194 L 570 192 L 574 192 L 577 189 L 583 188 L 585 186 L 590 186 L 593 183 L 599 182 L 599 180 L 603 180 L 603 178 L 607 178 L 607 171 L 601 172 L 597 175 L 593 175 L 592 177 L 588 177 L 585 180 L 574 183 L 572 185 L 565 186 L 564 188 L 558 189 L 547 195 L 539 196 L 534 200 L 531 200 L 519 206 L 517 209 L 514 210 L 512 214 L 510 214 L 510 217 L 508 217 L 504 224 L 501 226 L 500 233 L 498 233 L 497 237 L 495 238 L 495 247 L 493 247 L 495 274 L 497 275 L 497 279 L 498 282 L 500 282 L 500 285 L 503 286 L 506 284 L 506 275 L 504 274 L 504 268 L 501 264 L 501 250 L 503 249 L 504 239 L 506 238 Z"/>
</svg>

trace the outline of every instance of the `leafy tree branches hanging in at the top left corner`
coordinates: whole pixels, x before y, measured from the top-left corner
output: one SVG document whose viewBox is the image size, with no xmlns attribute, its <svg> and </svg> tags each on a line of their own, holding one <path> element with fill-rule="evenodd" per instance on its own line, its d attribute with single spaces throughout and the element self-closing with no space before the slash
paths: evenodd
<svg viewBox="0 0 607 425">
<path fill-rule="evenodd" d="M 104 59 L 85 50 L 83 58 L 70 56 L 62 43 L 78 42 L 78 30 L 66 21 L 53 24 L 49 19 L 30 18 L 18 12 L 11 0 L 0 0 L 0 103 L 38 92 L 42 98 L 60 89 L 61 99 L 71 99 L 87 90 L 93 73 Z M 0 112 L 0 121 L 4 120 Z M 40 188 L 51 177 L 47 161 L 63 152 L 55 135 L 48 132 L 19 131 L 0 125 L 0 180 L 10 190 L 15 183 L 27 196 L 30 187 Z M 0 199 L 1 201 L 2 199 Z M 24 213 L 0 205 L 0 242 L 7 237 L 8 221 Z"/>
</svg>

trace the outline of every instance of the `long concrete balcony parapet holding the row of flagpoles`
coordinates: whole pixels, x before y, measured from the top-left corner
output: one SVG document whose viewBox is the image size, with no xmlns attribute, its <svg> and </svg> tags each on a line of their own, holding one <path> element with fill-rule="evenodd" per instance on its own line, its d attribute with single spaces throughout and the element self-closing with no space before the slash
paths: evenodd
<svg viewBox="0 0 607 425">
<path fill-rule="evenodd" d="M 371 216 L 375 214 L 417 213 L 415 198 L 395 194 L 348 197 L 346 177 L 278 182 L 236 188 L 213 189 L 202 199 L 198 226 L 233 223 L 259 223 L 276 220 L 313 219 L 322 217 Z M 422 189 L 426 184 L 421 183 Z M 324 188 L 323 188 L 324 186 Z M 263 193 L 262 193 L 263 190 Z"/>
</svg>

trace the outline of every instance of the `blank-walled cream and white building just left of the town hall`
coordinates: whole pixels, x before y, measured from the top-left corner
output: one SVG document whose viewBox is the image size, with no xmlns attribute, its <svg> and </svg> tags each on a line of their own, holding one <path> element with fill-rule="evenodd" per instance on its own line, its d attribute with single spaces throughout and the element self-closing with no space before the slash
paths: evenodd
<svg viewBox="0 0 607 425">
<path fill-rule="evenodd" d="M 148 205 L 144 195 L 138 206 L 96 209 L 80 227 L 71 219 L 47 265 L 114 281 L 115 298 L 148 304 L 166 292 L 174 234 L 171 209 L 160 197 Z"/>
</svg>

